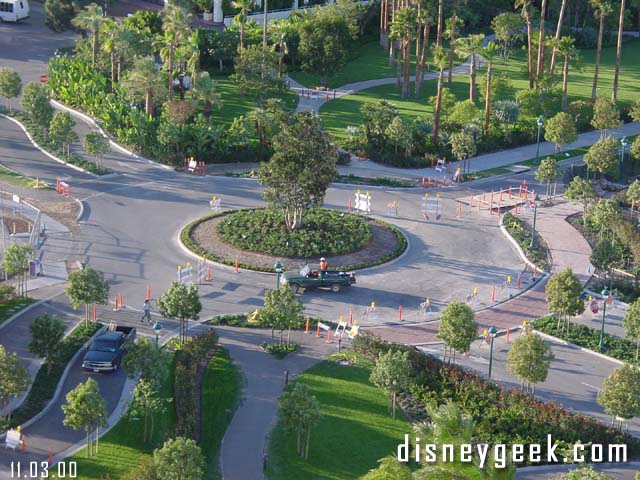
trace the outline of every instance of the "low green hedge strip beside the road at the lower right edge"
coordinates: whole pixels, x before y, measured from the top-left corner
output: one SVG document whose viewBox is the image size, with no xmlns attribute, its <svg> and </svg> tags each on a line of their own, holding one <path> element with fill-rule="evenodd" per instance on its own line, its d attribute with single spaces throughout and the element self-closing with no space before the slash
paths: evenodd
<svg viewBox="0 0 640 480">
<path fill-rule="evenodd" d="M 553 317 L 542 317 L 533 323 L 536 330 L 548 335 L 561 338 L 580 347 L 599 351 L 600 330 L 586 325 L 572 323 L 568 332 L 561 333 L 556 329 L 558 320 Z M 636 360 L 636 342 L 620 338 L 615 335 L 604 334 L 605 352 L 608 356 L 629 363 L 638 363 Z"/>
</svg>

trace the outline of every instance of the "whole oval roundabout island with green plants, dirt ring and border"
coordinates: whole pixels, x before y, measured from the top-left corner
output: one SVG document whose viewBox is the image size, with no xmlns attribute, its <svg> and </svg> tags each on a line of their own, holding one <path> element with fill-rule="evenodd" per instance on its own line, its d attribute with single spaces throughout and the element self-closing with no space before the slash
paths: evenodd
<svg viewBox="0 0 640 480">
<path fill-rule="evenodd" d="M 207 260 L 270 273 L 276 260 L 295 269 L 330 255 L 331 270 L 367 268 L 398 257 L 408 245 L 396 227 L 362 215 L 315 209 L 307 214 L 317 217 L 314 228 L 293 232 L 270 215 L 282 214 L 265 208 L 212 213 L 184 227 L 180 239 Z"/>
</svg>

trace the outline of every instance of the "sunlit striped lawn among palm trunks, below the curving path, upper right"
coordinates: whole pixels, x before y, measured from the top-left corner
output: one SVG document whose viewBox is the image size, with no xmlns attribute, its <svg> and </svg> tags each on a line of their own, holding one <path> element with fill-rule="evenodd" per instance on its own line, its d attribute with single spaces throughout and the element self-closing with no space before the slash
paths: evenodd
<svg viewBox="0 0 640 480">
<path fill-rule="evenodd" d="M 602 96 L 610 97 L 613 84 L 613 69 L 615 66 L 615 48 L 602 50 L 598 89 Z M 583 70 L 573 69 L 569 71 L 569 101 L 586 100 L 591 98 L 591 85 L 593 82 L 593 63 L 595 50 L 585 50 L 583 55 Z M 523 89 L 528 87 L 526 78 L 526 54 L 517 50 L 508 62 L 502 63 L 498 60 L 495 63 L 494 75 L 508 75 L 514 87 Z M 361 67 L 362 68 L 362 67 Z M 562 64 L 557 67 L 556 74 L 559 80 L 562 78 Z M 346 70 L 346 67 L 345 67 Z M 485 68 L 478 72 L 478 79 L 485 74 Z M 639 98 L 640 84 L 640 40 L 633 40 L 626 43 L 622 51 L 622 68 L 620 70 L 620 81 L 618 86 L 618 100 L 621 104 L 629 104 Z M 454 84 L 451 91 L 459 100 L 465 100 L 469 95 L 469 76 L 454 76 Z M 420 99 L 400 97 L 400 89 L 392 85 L 383 85 L 362 90 L 353 95 L 347 95 L 337 100 L 325 103 L 320 109 L 320 117 L 325 128 L 336 137 L 345 136 L 345 128 L 350 125 L 359 125 L 362 122 L 360 107 L 364 103 L 377 102 L 381 99 L 389 100 L 398 106 L 400 115 L 405 120 L 413 120 L 417 117 L 431 119 L 433 109 L 426 104 L 426 99 L 436 94 L 436 80 L 425 81 Z M 482 105 L 478 103 L 482 108 Z"/>
</svg>

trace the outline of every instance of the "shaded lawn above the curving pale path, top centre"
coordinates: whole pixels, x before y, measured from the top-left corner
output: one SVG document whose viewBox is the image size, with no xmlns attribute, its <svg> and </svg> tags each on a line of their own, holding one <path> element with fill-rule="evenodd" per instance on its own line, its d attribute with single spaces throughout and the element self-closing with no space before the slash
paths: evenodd
<svg viewBox="0 0 640 480">
<path fill-rule="evenodd" d="M 431 45 L 431 42 L 429 43 Z M 445 48 L 449 43 L 443 41 Z M 411 75 L 415 73 L 415 43 L 411 47 Z M 389 51 L 383 49 L 378 42 L 365 44 L 354 43 L 350 52 L 353 60 L 347 62 L 344 68 L 332 79 L 327 81 L 327 87 L 337 88 L 347 83 L 373 80 L 376 78 L 388 78 L 396 76 L 396 66 L 389 66 Z M 428 57 L 427 57 L 428 59 Z M 453 57 L 453 64 L 464 62 L 457 56 Z M 320 86 L 320 77 L 302 71 L 290 72 L 289 76 L 300 82 L 305 87 Z"/>
</svg>

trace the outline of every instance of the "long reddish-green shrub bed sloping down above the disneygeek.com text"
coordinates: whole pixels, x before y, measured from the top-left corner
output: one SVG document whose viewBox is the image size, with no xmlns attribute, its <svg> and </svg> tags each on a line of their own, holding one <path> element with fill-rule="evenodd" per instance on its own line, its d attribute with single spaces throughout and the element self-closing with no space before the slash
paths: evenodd
<svg viewBox="0 0 640 480">
<path fill-rule="evenodd" d="M 479 374 L 439 359 L 415 348 L 384 342 L 374 335 L 358 335 L 353 349 L 375 358 L 388 349 L 408 350 L 413 367 L 408 395 L 412 402 L 409 415 L 420 418 L 424 405 L 453 400 L 475 422 L 475 441 L 546 445 L 547 435 L 554 441 L 571 444 L 593 442 L 605 445 L 626 443 L 630 457 L 640 454 L 640 440 L 608 425 L 565 410 L 555 402 L 543 402 L 518 389 L 503 390 Z M 406 410 L 407 403 L 402 405 Z M 543 448 L 543 458 L 546 455 Z"/>
</svg>

